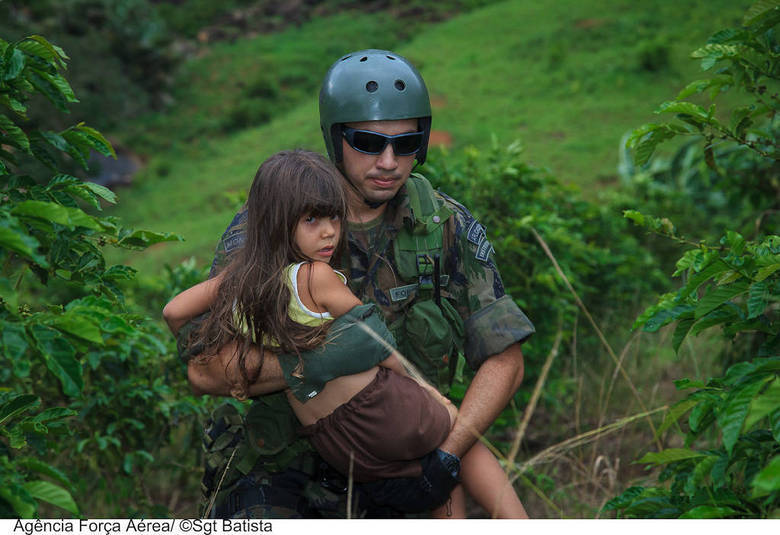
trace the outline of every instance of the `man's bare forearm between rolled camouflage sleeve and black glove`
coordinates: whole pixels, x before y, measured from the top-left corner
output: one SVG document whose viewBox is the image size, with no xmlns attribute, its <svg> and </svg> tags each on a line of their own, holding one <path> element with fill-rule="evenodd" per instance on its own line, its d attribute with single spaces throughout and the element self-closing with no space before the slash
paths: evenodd
<svg viewBox="0 0 780 535">
<path fill-rule="evenodd" d="M 519 343 L 487 359 L 466 390 L 455 426 L 440 449 L 462 457 L 509 403 L 523 381 L 523 371 Z"/>
</svg>

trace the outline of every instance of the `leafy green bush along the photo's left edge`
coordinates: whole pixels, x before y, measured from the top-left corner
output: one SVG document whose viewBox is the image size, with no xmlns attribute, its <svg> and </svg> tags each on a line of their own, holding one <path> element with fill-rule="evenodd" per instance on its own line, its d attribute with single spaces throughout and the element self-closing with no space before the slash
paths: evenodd
<svg viewBox="0 0 780 535">
<path fill-rule="evenodd" d="M 122 285 L 134 270 L 107 265 L 102 247 L 178 237 L 100 216 L 115 195 L 61 172 L 63 153 L 82 166 L 92 150 L 114 155 L 97 130 L 26 121 L 36 93 L 60 111 L 75 101 L 65 53 L 32 36 L 0 39 L 0 58 L 0 514 L 79 515 L 88 503 L 93 515 L 160 516 L 141 480 L 170 469 L 174 429 L 204 404 L 176 391 L 186 374 L 170 338 L 128 306 Z M 29 160 L 48 172 L 28 175 Z"/>
</svg>

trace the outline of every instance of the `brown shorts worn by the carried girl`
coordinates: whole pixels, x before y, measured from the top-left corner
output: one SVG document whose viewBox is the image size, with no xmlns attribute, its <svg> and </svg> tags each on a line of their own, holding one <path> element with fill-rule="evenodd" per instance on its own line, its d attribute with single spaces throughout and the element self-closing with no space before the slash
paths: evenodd
<svg viewBox="0 0 780 535">
<path fill-rule="evenodd" d="M 450 414 L 414 380 L 387 368 L 333 413 L 301 429 L 333 468 L 357 482 L 421 474 L 420 457 L 450 432 Z"/>
</svg>

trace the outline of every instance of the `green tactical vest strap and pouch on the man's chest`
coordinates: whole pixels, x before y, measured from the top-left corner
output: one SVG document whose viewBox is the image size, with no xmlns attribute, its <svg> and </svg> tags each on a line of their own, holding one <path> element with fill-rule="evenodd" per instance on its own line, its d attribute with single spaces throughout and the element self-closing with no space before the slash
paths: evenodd
<svg viewBox="0 0 780 535">
<path fill-rule="evenodd" d="M 389 327 L 398 350 L 442 393 L 449 392 L 463 347 L 463 320 L 441 296 L 449 284 L 442 274 L 443 226 L 453 214 L 430 182 L 412 174 L 406 182 L 411 218 L 393 243 L 397 275 L 406 284 L 391 288 L 390 299 L 404 301 L 400 318 Z"/>
</svg>

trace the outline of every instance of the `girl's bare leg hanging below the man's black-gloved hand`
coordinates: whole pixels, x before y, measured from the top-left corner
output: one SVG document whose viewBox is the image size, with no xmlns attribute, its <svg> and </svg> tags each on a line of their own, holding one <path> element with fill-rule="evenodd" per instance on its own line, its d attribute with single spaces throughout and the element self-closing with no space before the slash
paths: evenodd
<svg viewBox="0 0 780 535">
<path fill-rule="evenodd" d="M 528 518 L 498 459 L 482 442 L 463 456 L 460 475 L 466 491 L 491 517 Z"/>
</svg>

